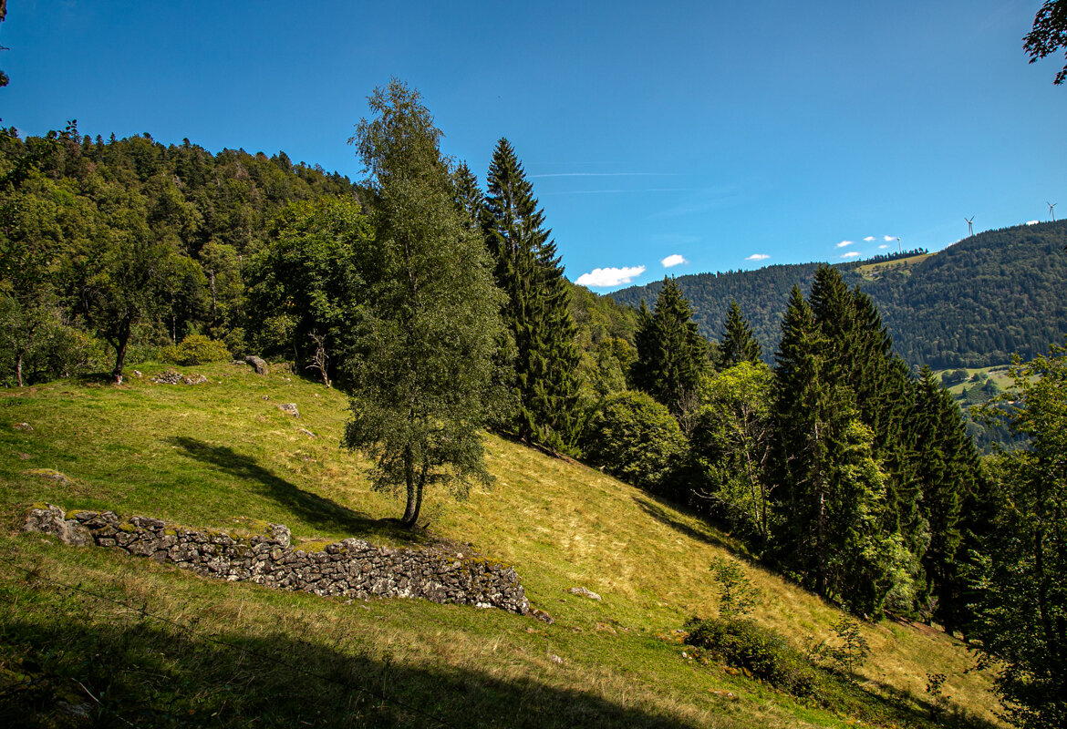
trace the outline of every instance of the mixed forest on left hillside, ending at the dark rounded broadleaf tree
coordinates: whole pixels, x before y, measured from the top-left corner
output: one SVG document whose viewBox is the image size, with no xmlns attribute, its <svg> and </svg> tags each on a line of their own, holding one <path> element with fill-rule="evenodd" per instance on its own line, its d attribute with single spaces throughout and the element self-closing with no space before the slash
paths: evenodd
<svg viewBox="0 0 1067 729">
<path fill-rule="evenodd" d="M 237 353 L 245 278 L 290 203 L 352 196 L 319 167 L 187 140 L 0 133 L 0 382 L 31 384 L 155 354 L 188 335 Z"/>
</svg>

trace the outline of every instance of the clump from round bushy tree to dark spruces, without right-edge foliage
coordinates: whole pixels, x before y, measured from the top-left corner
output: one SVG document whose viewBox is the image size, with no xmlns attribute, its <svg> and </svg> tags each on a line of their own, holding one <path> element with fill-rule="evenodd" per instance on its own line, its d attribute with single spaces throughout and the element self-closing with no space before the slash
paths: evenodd
<svg viewBox="0 0 1067 729">
<path fill-rule="evenodd" d="M 987 490 L 961 412 L 930 370 L 911 375 L 870 296 L 831 266 L 813 279 L 807 298 L 792 287 L 773 368 L 736 302 L 711 356 L 665 280 L 641 309 L 641 392 L 605 400 L 588 455 L 858 614 L 961 627 L 965 535 L 985 530 L 965 519 Z M 648 434 L 639 444 L 635 432 Z"/>
</svg>

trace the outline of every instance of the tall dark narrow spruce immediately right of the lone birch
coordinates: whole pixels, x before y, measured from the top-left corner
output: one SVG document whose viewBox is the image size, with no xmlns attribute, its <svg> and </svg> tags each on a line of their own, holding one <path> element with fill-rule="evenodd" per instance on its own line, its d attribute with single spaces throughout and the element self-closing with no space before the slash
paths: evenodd
<svg viewBox="0 0 1067 729">
<path fill-rule="evenodd" d="M 515 343 L 512 425 L 520 438 L 575 452 L 579 430 L 577 327 L 556 245 L 507 140 L 497 142 L 482 214 L 504 320 Z"/>
</svg>

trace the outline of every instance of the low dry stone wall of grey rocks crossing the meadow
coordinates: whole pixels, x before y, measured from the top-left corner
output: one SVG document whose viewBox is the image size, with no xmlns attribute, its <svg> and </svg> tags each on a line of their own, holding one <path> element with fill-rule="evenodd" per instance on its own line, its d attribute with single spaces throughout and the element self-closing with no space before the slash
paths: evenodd
<svg viewBox="0 0 1067 729">
<path fill-rule="evenodd" d="M 514 568 L 442 547 L 391 549 L 352 538 L 304 551 L 290 546 L 289 530 L 282 524 L 268 524 L 266 534 L 243 537 L 168 525 L 148 517 L 123 521 L 114 512 L 68 514 L 54 504 L 33 508 L 25 529 L 54 534 L 71 545 L 116 548 L 230 582 L 322 596 L 424 598 L 530 614 Z"/>
</svg>

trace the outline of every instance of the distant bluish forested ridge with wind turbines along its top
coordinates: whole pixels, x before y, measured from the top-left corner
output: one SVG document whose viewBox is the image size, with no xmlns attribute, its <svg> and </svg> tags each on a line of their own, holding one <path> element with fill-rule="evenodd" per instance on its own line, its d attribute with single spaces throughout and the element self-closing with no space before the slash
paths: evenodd
<svg viewBox="0 0 1067 729">
<path fill-rule="evenodd" d="M 989 367 L 1042 353 L 1067 334 L 1067 222 L 989 230 L 930 256 L 880 266 L 838 264 L 849 285 L 871 294 L 912 365 Z M 790 289 L 807 293 L 816 263 L 770 265 L 679 277 L 703 335 L 718 339 L 735 298 L 767 357 L 780 337 Z M 617 302 L 651 306 L 662 281 L 622 289 Z"/>
</svg>

